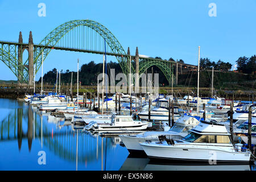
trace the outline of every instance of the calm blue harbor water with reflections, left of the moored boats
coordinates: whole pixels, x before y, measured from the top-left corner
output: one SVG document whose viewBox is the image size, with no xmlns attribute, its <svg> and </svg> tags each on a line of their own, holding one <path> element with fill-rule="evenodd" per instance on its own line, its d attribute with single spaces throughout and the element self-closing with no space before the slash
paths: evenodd
<svg viewBox="0 0 256 182">
<path fill-rule="evenodd" d="M 255 170 L 250 165 L 155 164 L 129 155 L 119 137 L 83 132 L 64 118 L 0 98 L 0 170 Z"/>
</svg>

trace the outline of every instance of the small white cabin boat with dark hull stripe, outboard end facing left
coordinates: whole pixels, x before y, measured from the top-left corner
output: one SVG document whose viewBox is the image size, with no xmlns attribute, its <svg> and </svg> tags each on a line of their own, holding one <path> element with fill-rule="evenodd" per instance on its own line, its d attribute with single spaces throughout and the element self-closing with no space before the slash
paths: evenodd
<svg viewBox="0 0 256 182">
<path fill-rule="evenodd" d="M 90 122 L 85 129 L 94 131 L 145 130 L 148 124 L 148 122 L 134 121 L 130 115 L 113 115 L 110 124 L 98 125 L 96 122 Z"/>
</svg>

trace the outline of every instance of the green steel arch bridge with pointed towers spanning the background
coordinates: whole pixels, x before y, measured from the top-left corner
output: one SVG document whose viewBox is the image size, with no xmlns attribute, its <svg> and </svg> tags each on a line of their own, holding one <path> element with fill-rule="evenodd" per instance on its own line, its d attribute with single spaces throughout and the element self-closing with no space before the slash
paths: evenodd
<svg viewBox="0 0 256 182">
<path fill-rule="evenodd" d="M 126 75 L 129 73 L 130 57 L 133 62 L 131 73 L 141 74 L 147 68 L 155 65 L 164 73 L 169 83 L 172 79 L 172 65 L 175 61 L 159 60 L 151 57 L 141 57 L 138 53 L 135 56 L 126 53 L 125 49 L 118 42 L 117 38 L 102 24 L 93 20 L 71 20 L 63 23 L 52 30 L 39 44 L 34 44 L 32 33 L 28 43 L 23 43 L 20 32 L 19 42 L 0 42 L 0 60 L 11 69 L 19 82 L 31 84 L 34 65 L 35 73 L 39 71 L 42 61 L 52 51 L 60 49 L 65 51 L 88 52 L 104 55 L 106 43 L 106 54 L 115 56 L 120 67 Z M 23 63 L 23 51 L 28 50 L 28 59 Z M 136 68 L 136 61 L 139 61 L 139 68 Z M 180 64 L 181 65 L 181 64 Z M 193 66 L 193 65 L 191 65 Z M 31 78 L 30 78 L 31 77 Z M 173 77 L 175 78 L 175 77 Z"/>
</svg>

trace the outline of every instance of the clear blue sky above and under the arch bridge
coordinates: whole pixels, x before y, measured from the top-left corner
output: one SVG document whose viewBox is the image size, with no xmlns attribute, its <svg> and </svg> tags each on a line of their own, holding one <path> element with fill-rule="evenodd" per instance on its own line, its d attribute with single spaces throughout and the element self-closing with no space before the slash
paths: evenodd
<svg viewBox="0 0 256 182">
<path fill-rule="evenodd" d="M 38 16 L 38 4 L 46 4 L 46 17 Z M 215 3 L 217 16 L 210 17 L 209 3 Z M 34 43 L 54 28 L 69 20 L 92 19 L 108 28 L 131 54 L 160 56 L 162 59 L 183 59 L 197 65 L 200 56 L 211 61 L 235 64 L 240 56 L 250 57 L 256 50 L 256 1 L 57 1 L 0 0 L 0 40 L 28 42 L 32 31 Z M 24 55 L 26 57 L 26 53 Z M 102 62 L 101 55 L 51 51 L 44 64 L 44 73 L 57 68 L 76 71 L 80 63 Z M 116 61 L 108 57 L 108 61 Z M 0 62 L 0 80 L 16 80 Z M 36 79 L 41 76 L 39 71 Z"/>
</svg>

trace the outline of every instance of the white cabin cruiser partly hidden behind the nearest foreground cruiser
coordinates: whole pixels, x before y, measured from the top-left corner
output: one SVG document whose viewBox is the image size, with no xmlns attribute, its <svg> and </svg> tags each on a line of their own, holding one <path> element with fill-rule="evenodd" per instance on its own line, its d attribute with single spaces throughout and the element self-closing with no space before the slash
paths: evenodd
<svg viewBox="0 0 256 182">
<path fill-rule="evenodd" d="M 183 115 L 175 122 L 174 126 L 169 131 L 146 131 L 138 135 L 119 135 L 127 150 L 132 153 L 144 154 L 140 143 L 156 142 L 160 135 L 166 135 L 169 139 L 181 139 L 188 134 L 188 131 L 197 126 L 200 122 L 200 117 L 192 117 Z"/>
</svg>

